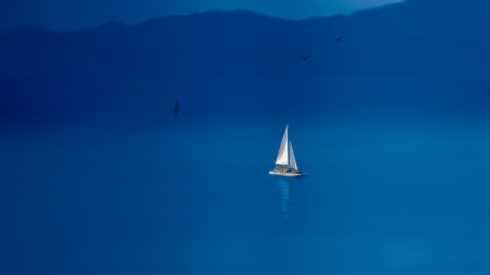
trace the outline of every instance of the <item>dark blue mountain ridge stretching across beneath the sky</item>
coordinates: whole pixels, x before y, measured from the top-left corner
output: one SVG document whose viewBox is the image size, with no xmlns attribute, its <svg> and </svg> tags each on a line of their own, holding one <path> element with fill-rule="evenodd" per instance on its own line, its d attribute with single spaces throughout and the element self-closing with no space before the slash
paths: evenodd
<svg viewBox="0 0 490 275">
<path fill-rule="evenodd" d="M 485 77 L 486 3 L 407 0 L 286 21 L 248 11 L 0 34 L 0 77 Z M 338 43 L 342 34 L 348 40 Z M 308 52 L 314 60 L 298 65 Z"/>
</svg>

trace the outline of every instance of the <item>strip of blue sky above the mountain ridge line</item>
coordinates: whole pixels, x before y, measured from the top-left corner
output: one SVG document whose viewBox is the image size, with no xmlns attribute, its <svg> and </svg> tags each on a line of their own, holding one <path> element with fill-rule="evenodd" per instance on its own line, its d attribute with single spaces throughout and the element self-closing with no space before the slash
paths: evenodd
<svg viewBox="0 0 490 275">
<path fill-rule="evenodd" d="M 37 26 L 57 30 L 94 27 L 109 20 L 137 24 L 149 18 L 246 9 L 290 20 L 351 13 L 402 0 L 1 0 L 0 32 Z"/>
</svg>

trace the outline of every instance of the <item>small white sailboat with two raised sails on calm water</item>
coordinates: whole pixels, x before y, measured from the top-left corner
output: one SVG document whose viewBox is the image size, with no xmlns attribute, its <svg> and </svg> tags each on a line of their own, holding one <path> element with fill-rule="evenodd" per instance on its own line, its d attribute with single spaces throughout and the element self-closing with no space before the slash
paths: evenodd
<svg viewBox="0 0 490 275">
<path fill-rule="evenodd" d="M 275 168 L 269 174 L 277 176 L 297 177 L 303 175 L 297 168 L 296 159 L 294 159 L 293 143 L 287 138 L 287 127 L 282 136 L 281 147 L 279 148 L 278 159 L 275 160 Z"/>
</svg>

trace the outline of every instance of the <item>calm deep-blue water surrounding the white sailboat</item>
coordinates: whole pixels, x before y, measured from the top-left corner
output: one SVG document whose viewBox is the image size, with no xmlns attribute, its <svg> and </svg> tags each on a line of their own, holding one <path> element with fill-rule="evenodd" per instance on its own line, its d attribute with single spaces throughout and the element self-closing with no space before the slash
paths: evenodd
<svg viewBox="0 0 490 275">
<path fill-rule="evenodd" d="M 139 86 L 2 129 L 2 274 L 490 272 L 487 82 Z M 285 124 L 308 176 L 268 175 Z"/>
</svg>

